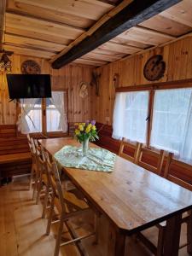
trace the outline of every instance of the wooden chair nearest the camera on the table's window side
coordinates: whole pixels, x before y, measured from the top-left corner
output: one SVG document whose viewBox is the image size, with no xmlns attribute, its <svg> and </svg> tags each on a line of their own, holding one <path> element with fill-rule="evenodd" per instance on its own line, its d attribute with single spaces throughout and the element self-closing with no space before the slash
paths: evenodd
<svg viewBox="0 0 192 256">
<path fill-rule="evenodd" d="M 172 176 L 170 175 L 170 166 L 172 164 L 173 160 L 173 153 L 168 153 L 166 156 L 166 168 L 164 172 L 164 177 L 169 178 Z M 173 178 L 173 182 L 177 181 L 178 179 Z M 179 185 L 182 186 L 183 183 L 178 183 Z M 189 187 L 188 187 L 189 189 Z M 190 187 L 190 190 L 192 189 L 192 185 Z M 181 225 L 183 223 L 187 224 L 187 243 L 182 245 L 180 248 L 187 246 L 187 251 L 189 254 L 192 253 L 192 241 L 190 241 L 189 233 L 192 232 L 192 219 L 191 219 L 191 214 L 192 211 L 184 212 L 181 220 Z M 143 236 L 143 233 L 139 234 L 139 238 L 143 243 L 154 253 L 156 256 L 162 256 L 163 255 L 163 246 L 164 246 L 164 239 L 165 239 L 165 232 L 166 232 L 166 221 L 157 224 L 156 228 L 158 229 L 158 233 L 154 234 L 154 236 L 158 236 L 158 242 L 157 242 L 157 247 L 155 248 L 154 245 L 149 241 L 148 237 Z M 151 234 L 152 235 L 152 234 Z"/>
</svg>

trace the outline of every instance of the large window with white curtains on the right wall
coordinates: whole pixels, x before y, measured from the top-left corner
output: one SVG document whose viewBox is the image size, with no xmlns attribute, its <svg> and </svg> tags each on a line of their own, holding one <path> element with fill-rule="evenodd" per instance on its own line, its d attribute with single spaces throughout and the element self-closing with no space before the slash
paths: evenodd
<svg viewBox="0 0 192 256">
<path fill-rule="evenodd" d="M 162 87 L 163 88 L 163 87 Z M 149 103 L 150 99 L 150 103 Z M 148 113 L 153 113 L 149 118 Z M 148 121 L 146 121 L 148 120 Z M 165 149 L 192 161 L 192 89 L 119 92 L 113 110 L 113 137 Z"/>
</svg>

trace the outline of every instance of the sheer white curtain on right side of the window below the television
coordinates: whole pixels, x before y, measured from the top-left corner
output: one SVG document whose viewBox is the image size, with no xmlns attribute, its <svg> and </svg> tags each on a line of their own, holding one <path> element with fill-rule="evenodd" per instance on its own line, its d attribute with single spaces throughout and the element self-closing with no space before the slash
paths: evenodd
<svg viewBox="0 0 192 256">
<path fill-rule="evenodd" d="M 64 93 L 63 91 L 52 91 L 52 98 L 50 99 L 55 108 L 60 113 L 59 131 L 67 131 L 67 113 L 65 113 L 64 106 Z"/>
</svg>

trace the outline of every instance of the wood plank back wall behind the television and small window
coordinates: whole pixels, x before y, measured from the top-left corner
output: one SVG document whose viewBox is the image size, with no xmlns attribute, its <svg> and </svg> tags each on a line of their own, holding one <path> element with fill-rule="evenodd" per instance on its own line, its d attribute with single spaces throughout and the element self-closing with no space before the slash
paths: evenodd
<svg viewBox="0 0 192 256">
<path fill-rule="evenodd" d="M 67 90 L 68 91 L 68 121 L 70 123 L 83 121 L 90 119 L 90 93 L 85 99 L 79 97 L 79 84 L 84 81 L 90 83 L 92 67 L 79 66 L 77 64 L 67 65 L 60 70 L 53 70 L 49 62 L 41 58 L 32 58 L 24 55 L 12 55 L 12 73 L 20 73 L 20 65 L 23 61 L 34 60 L 37 61 L 41 67 L 41 73 L 48 73 L 52 78 L 52 90 Z M 89 86 L 89 90 L 91 87 Z M 2 143 L 10 141 L 14 143 L 15 140 L 22 143 L 25 151 L 29 151 L 26 138 L 22 138 L 19 133 L 16 132 L 16 119 L 17 109 L 15 102 L 9 102 L 8 85 L 6 83 L 6 77 L 3 73 L 0 73 L 0 131 L 3 138 Z M 10 137 L 10 131 L 14 133 Z M 0 136 L 1 137 L 1 136 Z M 5 152 L 3 146 L 0 145 L 4 154 L 20 153 L 20 147 L 9 147 L 9 152 Z M 23 150 L 24 150 L 23 149 Z M 20 163 L 4 164 L 0 166 L 2 171 L 2 177 L 10 177 L 15 174 L 27 173 L 31 170 L 31 160 L 21 161 Z M 1 178 L 1 177 L 0 177 Z"/>
</svg>

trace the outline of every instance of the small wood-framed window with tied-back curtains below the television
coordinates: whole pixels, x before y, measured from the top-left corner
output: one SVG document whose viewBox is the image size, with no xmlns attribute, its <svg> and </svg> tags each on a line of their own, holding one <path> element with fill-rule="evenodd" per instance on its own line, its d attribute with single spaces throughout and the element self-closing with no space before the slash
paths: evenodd
<svg viewBox="0 0 192 256">
<path fill-rule="evenodd" d="M 67 93 L 52 91 L 47 99 L 24 99 L 18 122 L 21 133 L 67 132 Z"/>
</svg>

